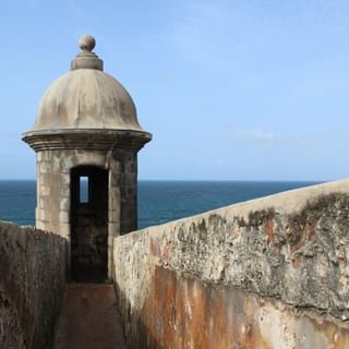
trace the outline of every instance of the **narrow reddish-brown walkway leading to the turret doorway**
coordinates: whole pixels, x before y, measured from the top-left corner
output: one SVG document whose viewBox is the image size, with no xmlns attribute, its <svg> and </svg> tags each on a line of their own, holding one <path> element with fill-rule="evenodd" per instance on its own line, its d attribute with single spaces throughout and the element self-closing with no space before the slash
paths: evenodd
<svg viewBox="0 0 349 349">
<path fill-rule="evenodd" d="M 67 285 L 53 349 L 70 348 L 127 348 L 112 285 Z"/>
</svg>

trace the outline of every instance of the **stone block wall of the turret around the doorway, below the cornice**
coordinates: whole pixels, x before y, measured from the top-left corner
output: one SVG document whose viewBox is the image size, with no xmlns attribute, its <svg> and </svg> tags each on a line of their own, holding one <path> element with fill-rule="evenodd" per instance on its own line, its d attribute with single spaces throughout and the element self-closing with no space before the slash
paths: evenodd
<svg viewBox="0 0 349 349">
<path fill-rule="evenodd" d="M 83 137 L 84 140 L 84 137 Z M 86 136 L 86 145 L 92 141 Z M 92 142 L 93 143 L 93 142 Z M 59 144 L 64 144 L 64 139 Z M 115 149 L 43 149 L 37 152 L 36 227 L 71 241 L 71 171 L 95 166 L 109 171 L 108 275 L 116 236 L 136 229 L 137 148 L 119 144 Z M 69 249 L 70 253 L 70 249 Z M 70 257 L 68 258 L 70 263 Z"/>
</svg>

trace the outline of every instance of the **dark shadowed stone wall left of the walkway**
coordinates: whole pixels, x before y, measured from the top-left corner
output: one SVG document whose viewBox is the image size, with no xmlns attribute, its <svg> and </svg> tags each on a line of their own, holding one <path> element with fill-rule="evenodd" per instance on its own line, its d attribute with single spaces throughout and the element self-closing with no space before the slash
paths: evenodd
<svg viewBox="0 0 349 349">
<path fill-rule="evenodd" d="M 57 234 L 0 221 L 0 348 L 49 348 L 65 245 Z"/>
</svg>

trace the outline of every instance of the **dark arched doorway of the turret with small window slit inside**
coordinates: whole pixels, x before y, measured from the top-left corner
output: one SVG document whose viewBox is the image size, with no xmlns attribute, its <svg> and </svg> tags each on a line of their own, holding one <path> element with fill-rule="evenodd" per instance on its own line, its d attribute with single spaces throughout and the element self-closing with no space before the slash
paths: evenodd
<svg viewBox="0 0 349 349">
<path fill-rule="evenodd" d="M 98 167 L 71 171 L 71 278 L 108 278 L 108 171 Z"/>
</svg>

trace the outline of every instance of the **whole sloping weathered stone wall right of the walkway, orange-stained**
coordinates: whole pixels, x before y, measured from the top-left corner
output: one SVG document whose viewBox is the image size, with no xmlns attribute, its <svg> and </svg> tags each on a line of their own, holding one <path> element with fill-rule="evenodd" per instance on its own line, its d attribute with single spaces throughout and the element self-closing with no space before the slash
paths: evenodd
<svg viewBox="0 0 349 349">
<path fill-rule="evenodd" d="M 348 348 L 349 181 L 115 239 L 132 348 Z"/>
</svg>

